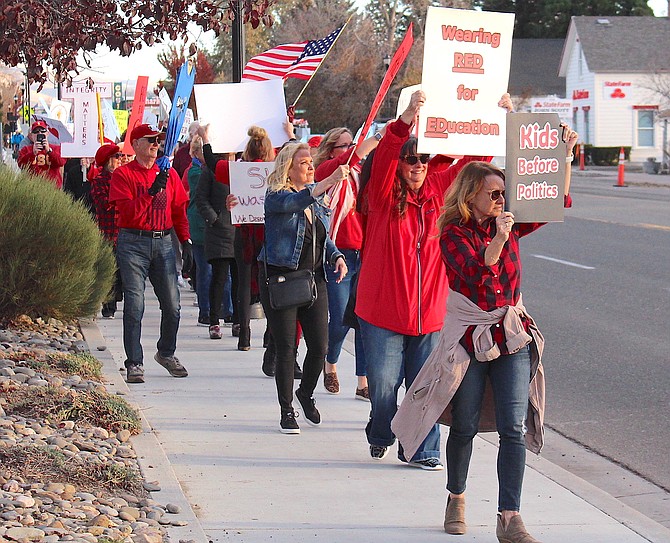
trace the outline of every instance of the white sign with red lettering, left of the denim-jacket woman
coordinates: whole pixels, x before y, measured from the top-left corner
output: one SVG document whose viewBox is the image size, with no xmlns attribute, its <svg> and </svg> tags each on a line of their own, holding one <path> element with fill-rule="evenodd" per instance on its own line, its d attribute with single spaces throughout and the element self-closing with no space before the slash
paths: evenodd
<svg viewBox="0 0 670 543">
<path fill-rule="evenodd" d="M 230 193 L 239 204 L 230 212 L 233 224 L 265 222 L 265 190 L 274 162 L 231 162 Z"/>
</svg>

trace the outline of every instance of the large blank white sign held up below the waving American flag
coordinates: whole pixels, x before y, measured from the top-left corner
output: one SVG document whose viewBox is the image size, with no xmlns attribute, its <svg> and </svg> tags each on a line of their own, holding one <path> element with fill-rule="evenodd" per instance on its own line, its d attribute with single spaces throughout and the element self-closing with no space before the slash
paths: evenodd
<svg viewBox="0 0 670 543">
<path fill-rule="evenodd" d="M 195 85 L 200 123 L 209 124 L 215 153 L 243 151 L 252 125 L 265 128 L 274 147 L 288 140 L 286 99 L 281 78 L 247 83 Z"/>
</svg>

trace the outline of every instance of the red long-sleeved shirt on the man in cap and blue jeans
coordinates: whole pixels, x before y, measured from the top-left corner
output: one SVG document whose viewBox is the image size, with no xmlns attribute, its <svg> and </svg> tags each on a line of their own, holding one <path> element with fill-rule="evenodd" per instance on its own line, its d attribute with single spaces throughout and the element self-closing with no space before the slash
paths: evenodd
<svg viewBox="0 0 670 543">
<path fill-rule="evenodd" d="M 167 186 L 156 196 L 147 190 L 158 175 L 154 164 L 145 168 L 137 160 L 114 170 L 109 201 L 118 211 L 119 228 L 136 230 L 169 230 L 174 226 L 179 241 L 189 239 L 186 206 L 188 196 L 176 171 L 170 168 Z"/>
</svg>

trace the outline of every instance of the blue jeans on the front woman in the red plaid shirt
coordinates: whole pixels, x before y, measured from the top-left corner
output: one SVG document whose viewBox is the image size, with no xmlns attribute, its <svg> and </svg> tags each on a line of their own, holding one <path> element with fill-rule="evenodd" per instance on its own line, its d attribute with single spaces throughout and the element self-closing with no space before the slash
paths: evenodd
<svg viewBox="0 0 670 543">
<path fill-rule="evenodd" d="M 496 426 L 500 436 L 498 510 L 519 511 L 526 462 L 524 435 L 530 381 L 528 347 L 491 362 L 478 362 L 471 357 L 468 371 L 451 401 L 453 422 L 447 439 L 447 489 L 453 494 L 465 492 L 472 440 L 479 426 L 487 379 L 490 379 L 493 389 Z"/>
</svg>

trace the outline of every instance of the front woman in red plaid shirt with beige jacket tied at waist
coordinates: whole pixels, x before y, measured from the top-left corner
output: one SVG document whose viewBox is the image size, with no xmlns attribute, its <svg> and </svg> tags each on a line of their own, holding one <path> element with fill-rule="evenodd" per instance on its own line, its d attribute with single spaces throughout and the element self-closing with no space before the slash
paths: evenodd
<svg viewBox="0 0 670 543">
<path fill-rule="evenodd" d="M 577 134 L 566 127 L 564 140 L 570 162 Z M 569 176 L 565 207 L 571 205 Z M 478 430 L 497 430 L 496 535 L 501 543 L 537 543 L 519 509 L 526 447 L 534 452 L 542 447 L 544 339 L 523 305 L 519 239 L 543 223 L 516 224 L 504 206 L 505 175 L 485 162 L 467 164 L 445 196 L 438 228 L 450 288 L 447 316 L 393 428 L 411 450 L 413 438 L 406 438 L 412 434 L 418 442 L 432 424 L 431 410 L 437 408 L 436 417 L 444 410 L 440 422 L 450 426 L 444 519 L 449 534 L 466 531 L 472 440 Z M 422 428 L 417 418 L 424 421 Z"/>
</svg>

